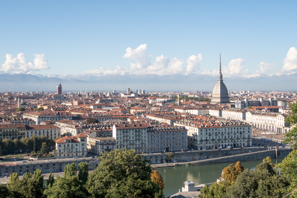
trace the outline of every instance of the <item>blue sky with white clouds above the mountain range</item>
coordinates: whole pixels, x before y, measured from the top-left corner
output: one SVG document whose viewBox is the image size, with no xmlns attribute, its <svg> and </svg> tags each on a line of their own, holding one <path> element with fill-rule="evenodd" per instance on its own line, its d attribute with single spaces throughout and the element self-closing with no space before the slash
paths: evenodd
<svg viewBox="0 0 297 198">
<path fill-rule="evenodd" d="M 297 72 L 297 1 L 0 1 L 0 73 Z"/>
</svg>

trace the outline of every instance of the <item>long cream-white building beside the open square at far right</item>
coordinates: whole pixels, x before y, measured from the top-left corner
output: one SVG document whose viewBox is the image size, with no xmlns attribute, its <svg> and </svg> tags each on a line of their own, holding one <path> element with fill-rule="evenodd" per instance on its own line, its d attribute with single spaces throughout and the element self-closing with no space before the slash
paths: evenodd
<svg viewBox="0 0 297 198">
<path fill-rule="evenodd" d="M 290 131 L 290 124 L 285 119 L 288 115 L 274 112 L 247 112 L 247 123 L 253 127 L 274 131 L 276 133 L 287 133 Z"/>
</svg>

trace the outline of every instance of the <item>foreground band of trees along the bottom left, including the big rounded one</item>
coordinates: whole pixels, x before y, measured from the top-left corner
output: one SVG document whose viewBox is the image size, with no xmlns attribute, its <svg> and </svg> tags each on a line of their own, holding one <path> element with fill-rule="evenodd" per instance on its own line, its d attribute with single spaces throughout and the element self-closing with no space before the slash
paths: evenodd
<svg viewBox="0 0 297 198">
<path fill-rule="evenodd" d="M 116 149 L 101 154 L 100 164 L 88 173 L 89 164 L 67 164 L 63 177 L 50 173 L 47 186 L 40 170 L 9 176 L 7 186 L 0 185 L 0 198 L 164 198 L 164 184 L 149 161 L 143 160 L 135 150 Z"/>
</svg>

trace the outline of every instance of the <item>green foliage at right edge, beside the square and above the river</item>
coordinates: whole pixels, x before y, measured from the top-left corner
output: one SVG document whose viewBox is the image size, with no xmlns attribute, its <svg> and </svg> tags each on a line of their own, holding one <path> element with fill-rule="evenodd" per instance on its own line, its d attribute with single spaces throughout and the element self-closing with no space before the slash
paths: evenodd
<svg viewBox="0 0 297 198">
<path fill-rule="evenodd" d="M 286 123 L 291 123 L 291 125 L 297 124 L 297 103 L 291 103 L 289 105 L 292 113 L 286 117 Z M 294 149 L 297 148 L 297 127 L 294 127 L 291 131 L 285 134 L 284 143 L 292 144 Z"/>
</svg>

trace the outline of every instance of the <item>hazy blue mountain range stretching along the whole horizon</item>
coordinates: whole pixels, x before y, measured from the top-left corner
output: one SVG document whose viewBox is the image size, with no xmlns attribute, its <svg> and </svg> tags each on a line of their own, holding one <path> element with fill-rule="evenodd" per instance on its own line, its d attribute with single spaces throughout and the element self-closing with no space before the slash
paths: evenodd
<svg viewBox="0 0 297 198">
<path fill-rule="evenodd" d="M 146 91 L 212 91 L 217 82 L 216 76 L 190 74 L 159 76 L 146 75 L 40 75 L 29 73 L 0 74 L 0 92 L 36 92 L 56 91 L 60 82 L 62 91 L 123 91 L 131 88 Z M 296 91 L 297 74 L 267 76 L 257 74 L 253 76 L 223 77 L 229 91 Z"/>
</svg>

